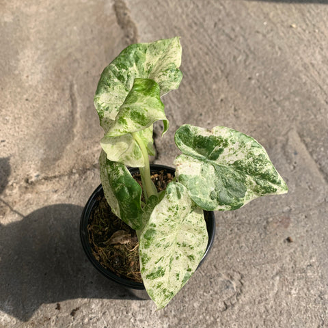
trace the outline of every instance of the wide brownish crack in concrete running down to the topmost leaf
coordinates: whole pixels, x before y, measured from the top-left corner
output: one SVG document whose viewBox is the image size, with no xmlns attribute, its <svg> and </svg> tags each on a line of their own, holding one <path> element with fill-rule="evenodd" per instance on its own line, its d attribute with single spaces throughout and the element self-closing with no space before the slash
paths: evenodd
<svg viewBox="0 0 328 328">
<path fill-rule="evenodd" d="M 128 10 L 128 7 L 126 6 L 124 0 L 115 0 L 113 8 L 116 20 L 118 21 L 118 25 L 124 32 L 126 45 L 137 43 L 139 39 L 137 26 L 131 18 L 131 12 L 130 10 Z"/>
</svg>

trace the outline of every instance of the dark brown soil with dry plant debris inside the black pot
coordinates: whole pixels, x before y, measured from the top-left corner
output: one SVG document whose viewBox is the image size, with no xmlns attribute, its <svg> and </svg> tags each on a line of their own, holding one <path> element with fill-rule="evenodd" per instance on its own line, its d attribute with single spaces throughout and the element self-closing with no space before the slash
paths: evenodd
<svg viewBox="0 0 328 328">
<path fill-rule="evenodd" d="M 141 185 L 140 174 L 133 178 Z M 152 181 L 158 191 L 174 178 L 172 174 L 161 171 L 152 172 Z M 142 282 L 139 264 L 139 243 L 135 230 L 111 212 L 105 196 L 98 197 L 98 206 L 94 206 L 87 226 L 90 245 L 98 262 L 119 277 Z"/>
</svg>

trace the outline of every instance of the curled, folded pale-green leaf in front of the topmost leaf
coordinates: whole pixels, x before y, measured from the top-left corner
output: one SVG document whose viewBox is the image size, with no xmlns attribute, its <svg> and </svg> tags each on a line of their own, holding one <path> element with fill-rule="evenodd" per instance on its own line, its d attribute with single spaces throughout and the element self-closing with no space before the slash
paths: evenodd
<svg viewBox="0 0 328 328">
<path fill-rule="evenodd" d="M 143 167 L 144 156 L 154 155 L 152 124 L 157 120 L 163 120 L 165 133 L 169 124 L 159 96 L 159 85 L 150 79 L 135 79 L 115 121 L 100 141 L 107 159 Z M 148 154 L 142 153 L 138 142 L 143 143 Z"/>
</svg>

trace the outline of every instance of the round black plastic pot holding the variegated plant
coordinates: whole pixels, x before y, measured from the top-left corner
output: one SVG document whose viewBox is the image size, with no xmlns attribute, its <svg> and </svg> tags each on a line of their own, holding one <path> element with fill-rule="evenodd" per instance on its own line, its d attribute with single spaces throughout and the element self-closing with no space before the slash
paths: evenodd
<svg viewBox="0 0 328 328">
<path fill-rule="evenodd" d="M 167 173 L 170 173 L 174 176 L 174 169 L 172 167 L 167 167 L 164 165 L 150 165 L 150 171 L 151 173 L 158 173 L 160 171 L 164 170 Z M 136 172 L 139 172 L 139 169 L 132 167 L 129 169 L 131 174 L 134 174 Z M 114 282 L 117 282 L 118 284 L 124 286 L 125 288 L 128 288 L 130 292 L 132 292 L 135 296 L 139 298 L 148 298 L 145 286 L 143 286 L 140 282 L 134 282 L 131 279 L 124 278 L 124 277 L 118 277 L 118 275 L 115 275 L 112 271 L 105 269 L 105 267 L 102 267 L 102 265 L 94 258 L 94 255 L 92 254 L 92 248 L 90 246 L 89 241 L 89 234 L 87 232 L 87 225 L 89 223 L 90 215 L 92 213 L 92 208 L 94 206 L 97 206 L 99 196 L 102 196 L 104 194 L 102 190 L 102 185 L 100 184 L 98 188 L 92 193 L 91 197 L 87 201 L 87 204 L 85 204 L 85 208 L 83 209 L 82 215 L 81 215 L 81 221 L 80 221 L 80 236 L 81 236 L 81 242 L 83 245 L 83 249 L 85 251 L 85 254 L 87 254 L 87 258 L 89 258 L 90 262 L 94 265 L 94 267 L 102 273 L 102 275 L 105 275 L 105 277 L 113 280 Z M 210 251 L 210 248 L 213 245 L 214 237 L 215 237 L 215 216 L 213 212 L 205 212 L 206 215 L 206 228 L 208 231 L 208 245 L 206 247 L 205 254 L 202 258 L 202 261 L 200 262 L 199 266 L 204 262 L 208 251 Z"/>
</svg>

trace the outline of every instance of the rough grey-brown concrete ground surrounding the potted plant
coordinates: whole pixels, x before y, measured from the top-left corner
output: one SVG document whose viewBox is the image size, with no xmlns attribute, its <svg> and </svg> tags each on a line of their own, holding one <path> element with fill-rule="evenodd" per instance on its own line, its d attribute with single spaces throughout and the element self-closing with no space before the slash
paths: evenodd
<svg viewBox="0 0 328 328">
<path fill-rule="evenodd" d="M 0 327 L 328 327 L 327 17 L 310 0 L 1 1 Z M 290 191 L 216 213 L 206 262 L 155 311 L 92 267 L 78 226 L 100 182 L 102 69 L 173 36 L 184 79 L 155 162 L 172 165 L 180 124 L 229 126 Z"/>
</svg>

